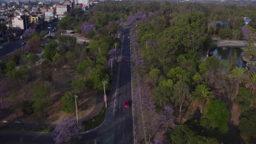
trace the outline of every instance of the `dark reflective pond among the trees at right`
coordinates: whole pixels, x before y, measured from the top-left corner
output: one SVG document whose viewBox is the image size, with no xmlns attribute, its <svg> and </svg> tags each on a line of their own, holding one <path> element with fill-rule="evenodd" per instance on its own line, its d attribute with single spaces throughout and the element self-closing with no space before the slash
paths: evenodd
<svg viewBox="0 0 256 144">
<path fill-rule="evenodd" d="M 230 61 L 230 57 L 236 52 L 236 67 L 245 68 L 246 61 L 242 59 L 242 50 L 243 47 L 215 47 L 209 52 L 209 56 L 216 56 L 221 60 Z"/>
</svg>

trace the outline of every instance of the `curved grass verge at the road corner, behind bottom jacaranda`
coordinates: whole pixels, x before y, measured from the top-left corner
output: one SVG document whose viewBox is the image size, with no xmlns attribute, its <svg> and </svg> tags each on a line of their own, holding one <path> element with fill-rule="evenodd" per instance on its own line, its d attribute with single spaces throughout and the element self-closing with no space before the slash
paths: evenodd
<svg viewBox="0 0 256 144">
<path fill-rule="evenodd" d="M 85 128 L 84 130 L 87 131 L 87 130 L 96 128 L 98 125 L 100 125 L 104 121 L 106 110 L 107 110 L 106 106 L 103 104 L 101 111 L 97 113 L 97 115 L 95 115 L 90 119 L 86 119 L 83 122 L 83 126 Z"/>
</svg>

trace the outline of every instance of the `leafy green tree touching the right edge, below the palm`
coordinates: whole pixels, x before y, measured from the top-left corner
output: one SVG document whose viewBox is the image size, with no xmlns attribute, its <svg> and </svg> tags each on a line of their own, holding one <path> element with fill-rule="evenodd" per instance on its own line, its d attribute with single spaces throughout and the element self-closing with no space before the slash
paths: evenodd
<svg viewBox="0 0 256 144">
<path fill-rule="evenodd" d="M 252 91 L 247 90 L 245 87 L 240 87 L 238 89 L 235 101 L 240 105 L 242 111 L 247 111 L 253 108 L 256 104 L 256 98 L 253 96 Z"/>
</svg>

